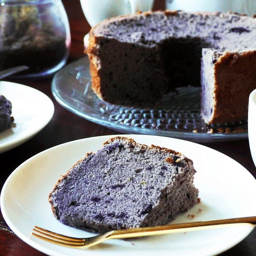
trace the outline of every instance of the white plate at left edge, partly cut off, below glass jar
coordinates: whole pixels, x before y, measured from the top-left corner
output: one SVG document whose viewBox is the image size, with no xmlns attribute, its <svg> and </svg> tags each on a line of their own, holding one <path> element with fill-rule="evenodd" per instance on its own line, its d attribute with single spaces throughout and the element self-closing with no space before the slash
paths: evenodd
<svg viewBox="0 0 256 256">
<path fill-rule="evenodd" d="M 0 153 L 24 143 L 36 135 L 54 115 L 54 104 L 42 92 L 26 85 L 0 81 L 0 94 L 13 105 L 14 122 L 0 133 Z"/>
</svg>

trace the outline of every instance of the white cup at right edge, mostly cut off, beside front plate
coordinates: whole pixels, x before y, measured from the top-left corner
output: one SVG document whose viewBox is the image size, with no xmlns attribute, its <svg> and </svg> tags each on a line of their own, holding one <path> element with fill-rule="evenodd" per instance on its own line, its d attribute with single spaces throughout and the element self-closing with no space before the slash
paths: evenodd
<svg viewBox="0 0 256 256">
<path fill-rule="evenodd" d="M 256 89 L 249 96 L 248 136 L 251 156 L 256 166 Z"/>
</svg>

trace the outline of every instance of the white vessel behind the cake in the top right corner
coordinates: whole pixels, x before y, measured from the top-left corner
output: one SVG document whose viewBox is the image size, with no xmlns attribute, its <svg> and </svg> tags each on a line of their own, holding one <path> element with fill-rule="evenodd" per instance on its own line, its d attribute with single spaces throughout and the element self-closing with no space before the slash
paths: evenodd
<svg viewBox="0 0 256 256">
<path fill-rule="evenodd" d="M 256 13 L 256 0 L 166 0 L 166 8 L 185 12 Z"/>
</svg>

